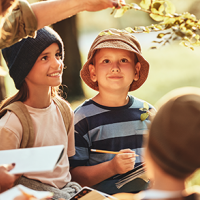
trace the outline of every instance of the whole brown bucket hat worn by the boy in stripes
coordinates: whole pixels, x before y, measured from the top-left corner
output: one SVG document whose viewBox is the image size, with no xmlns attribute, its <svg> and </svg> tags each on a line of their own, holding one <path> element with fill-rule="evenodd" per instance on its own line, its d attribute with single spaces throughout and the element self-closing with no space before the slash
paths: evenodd
<svg viewBox="0 0 200 200">
<path fill-rule="evenodd" d="M 103 34 L 102 34 L 103 33 Z M 92 64 L 92 58 L 97 49 L 114 48 L 134 52 L 137 56 L 138 62 L 141 64 L 140 78 L 138 81 L 133 81 L 129 91 L 138 89 L 147 79 L 149 73 L 149 63 L 144 59 L 141 53 L 141 46 L 139 41 L 131 33 L 125 30 L 118 30 L 114 28 L 103 30 L 94 40 L 86 63 L 80 72 L 82 80 L 92 89 L 99 91 L 98 83 L 90 79 L 89 65 Z"/>
</svg>

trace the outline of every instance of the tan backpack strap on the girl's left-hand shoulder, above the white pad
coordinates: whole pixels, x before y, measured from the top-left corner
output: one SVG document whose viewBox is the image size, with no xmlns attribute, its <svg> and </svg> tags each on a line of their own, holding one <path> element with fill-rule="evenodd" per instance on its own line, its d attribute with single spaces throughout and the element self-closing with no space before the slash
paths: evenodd
<svg viewBox="0 0 200 200">
<path fill-rule="evenodd" d="M 19 118 L 22 124 L 23 134 L 20 148 L 33 147 L 35 135 L 32 119 L 26 106 L 21 101 L 11 103 L 0 111 L 0 117 L 6 114 L 8 110 L 12 111 Z"/>
</svg>

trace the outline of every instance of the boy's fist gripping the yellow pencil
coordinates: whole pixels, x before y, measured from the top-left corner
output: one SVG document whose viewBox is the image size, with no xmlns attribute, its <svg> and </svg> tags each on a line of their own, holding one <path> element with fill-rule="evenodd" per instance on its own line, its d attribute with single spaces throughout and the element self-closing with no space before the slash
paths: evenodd
<svg viewBox="0 0 200 200">
<path fill-rule="evenodd" d="M 123 149 L 111 160 L 111 166 L 115 174 L 124 174 L 134 168 L 135 152 L 130 149 Z"/>
</svg>

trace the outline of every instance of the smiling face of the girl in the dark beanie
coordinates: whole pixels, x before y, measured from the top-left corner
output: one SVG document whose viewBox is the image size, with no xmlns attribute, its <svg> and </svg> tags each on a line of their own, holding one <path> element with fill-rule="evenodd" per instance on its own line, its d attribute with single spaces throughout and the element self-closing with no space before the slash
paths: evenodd
<svg viewBox="0 0 200 200">
<path fill-rule="evenodd" d="M 57 43 L 51 44 L 38 57 L 25 81 L 31 86 L 55 87 L 62 82 L 63 62 Z"/>
</svg>

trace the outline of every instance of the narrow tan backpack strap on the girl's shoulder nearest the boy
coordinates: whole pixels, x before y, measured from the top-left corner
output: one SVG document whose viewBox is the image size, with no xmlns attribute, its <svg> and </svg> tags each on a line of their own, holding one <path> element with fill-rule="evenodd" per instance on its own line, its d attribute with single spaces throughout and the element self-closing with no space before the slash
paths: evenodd
<svg viewBox="0 0 200 200">
<path fill-rule="evenodd" d="M 71 124 L 71 112 L 70 112 L 69 103 L 67 101 L 65 101 L 64 99 L 61 99 L 60 97 L 54 97 L 53 101 L 56 103 L 56 105 L 58 106 L 58 108 L 62 114 L 65 128 L 68 133 L 69 127 Z"/>
</svg>

